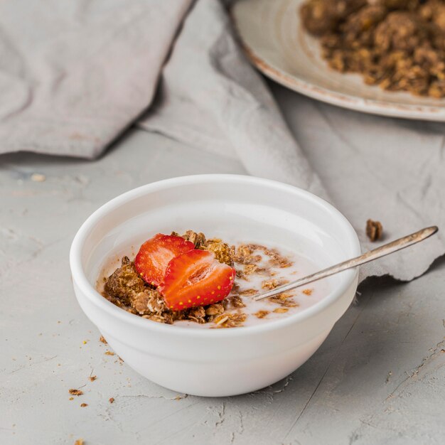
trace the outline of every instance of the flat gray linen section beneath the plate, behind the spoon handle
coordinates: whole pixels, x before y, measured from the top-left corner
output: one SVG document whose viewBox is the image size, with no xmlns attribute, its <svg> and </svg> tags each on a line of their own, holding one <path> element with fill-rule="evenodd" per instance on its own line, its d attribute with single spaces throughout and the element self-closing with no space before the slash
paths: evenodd
<svg viewBox="0 0 445 445">
<path fill-rule="evenodd" d="M 274 87 L 279 102 L 286 95 Z M 408 281 L 445 253 L 444 124 L 378 117 L 299 96 L 283 102 L 296 140 L 331 200 L 357 230 L 363 250 L 429 225 L 419 245 L 360 268 L 360 279 L 390 274 Z M 369 242 L 365 221 L 380 220 L 382 242 Z"/>
</svg>

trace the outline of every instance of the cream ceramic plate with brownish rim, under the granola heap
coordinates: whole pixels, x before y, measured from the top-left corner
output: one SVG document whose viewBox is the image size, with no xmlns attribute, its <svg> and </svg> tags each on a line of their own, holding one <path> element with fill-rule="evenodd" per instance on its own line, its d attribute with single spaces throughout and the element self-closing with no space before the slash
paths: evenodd
<svg viewBox="0 0 445 445">
<path fill-rule="evenodd" d="M 360 75 L 328 68 L 321 48 L 306 33 L 299 8 L 304 0 L 240 0 L 232 17 L 247 56 L 264 75 L 314 99 L 360 112 L 445 121 L 445 99 L 387 92 L 365 85 Z"/>
</svg>

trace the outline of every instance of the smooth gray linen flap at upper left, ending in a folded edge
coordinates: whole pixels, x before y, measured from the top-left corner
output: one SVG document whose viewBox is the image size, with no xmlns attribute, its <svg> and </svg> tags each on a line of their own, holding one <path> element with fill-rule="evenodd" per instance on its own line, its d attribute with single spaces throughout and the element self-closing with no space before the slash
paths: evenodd
<svg viewBox="0 0 445 445">
<path fill-rule="evenodd" d="M 0 153 L 94 158 L 148 107 L 191 0 L 0 2 Z"/>
</svg>

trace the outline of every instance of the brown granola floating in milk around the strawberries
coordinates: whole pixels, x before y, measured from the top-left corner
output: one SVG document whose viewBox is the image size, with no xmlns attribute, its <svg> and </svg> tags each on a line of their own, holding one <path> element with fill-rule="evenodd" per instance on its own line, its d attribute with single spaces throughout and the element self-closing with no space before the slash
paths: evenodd
<svg viewBox="0 0 445 445">
<path fill-rule="evenodd" d="M 277 250 L 268 249 L 262 245 L 248 244 L 235 246 L 227 245 L 219 239 L 205 238 L 203 233 L 188 230 L 183 235 L 172 232 L 172 235 L 182 236 L 193 242 L 196 249 L 210 250 L 215 257 L 231 267 L 235 266 L 238 279 L 249 282 L 254 274 L 264 277 L 262 289 L 274 289 L 286 283 L 284 279 L 274 278 L 274 269 L 286 268 L 292 265 L 286 257 Z M 264 258 L 262 254 L 264 254 Z M 258 293 L 258 289 L 240 290 L 235 283 L 232 292 L 227 298 L 216 304 L 198 306 L 182 311 L 171 311 L 163 301 L 163 297 L 154 286 L 146 283 L 136 272 L 134 262 L 128 257 L 122 258 L 121 267 L 116 269 L 109 277 L 104 278 L 102 295 L 116 306 L 159 323 L 172 324 L 174 321 L 193 321 L 195 323 L 214 322 L 213 328 L 232 328 L 242 326 L 247 319 L 247 314 L 242 310 L 245 308 L 243 298 Z M 269 298 L 269 301 L 279 304 L 281 307 L 274 309 L 274 313 L 284 313 L 289 307 L 298 306 L 291 294 L 279 294 Z M 258 311 L 254 316 L 264 318 L 269 311 Z"/>
</svg>

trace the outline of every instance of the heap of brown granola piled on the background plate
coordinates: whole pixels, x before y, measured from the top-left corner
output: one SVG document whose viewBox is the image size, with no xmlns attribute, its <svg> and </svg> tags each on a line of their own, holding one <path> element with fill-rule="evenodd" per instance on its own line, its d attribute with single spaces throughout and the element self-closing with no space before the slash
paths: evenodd
<svg viewBox="0 0 445 445">
<path fill-rule="evenodd" d="M 334 70 L 384 90 L 445 97 L 443 0 L 307 0 L 300 14 Z"/>
</svg>

